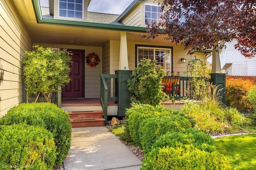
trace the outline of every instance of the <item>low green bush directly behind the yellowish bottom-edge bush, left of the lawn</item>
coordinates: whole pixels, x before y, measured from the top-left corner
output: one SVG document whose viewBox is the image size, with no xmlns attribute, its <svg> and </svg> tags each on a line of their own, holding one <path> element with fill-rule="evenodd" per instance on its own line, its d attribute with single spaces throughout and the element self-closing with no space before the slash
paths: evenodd
<svg viewBox="0 0 256 170">
<path fill-rule="evenodd" d="M 214 139 L 202 131 L 189 128 L 180 132 L 168 132 L 160 136 L 152 148 L 184 147 L 191 144 L 197 149 L 212 152 L 216 150 Z"/>
</svg>

